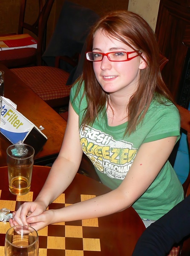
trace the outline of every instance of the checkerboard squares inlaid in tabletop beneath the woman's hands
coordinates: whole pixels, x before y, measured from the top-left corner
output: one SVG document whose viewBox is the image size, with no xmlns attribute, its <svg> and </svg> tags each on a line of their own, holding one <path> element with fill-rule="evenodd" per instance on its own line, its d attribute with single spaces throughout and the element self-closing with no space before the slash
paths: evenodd
<svg viewBox="0 0 190 256">
<path fill-rule="evenodd" d="M 9 191 L 0 190 L 0 208 L 8 208 L 13 212 L 24 201 L 33 201 L 36 196 L 33 192 L 16 196 Z M 95 195 L 80 195 L 80 200 L 84 201 L 93 197 Z M 49 205 L 49 209 L 70 205 L 66 201 L 65 194 L 62 194 Z M 9 227 L 9 222 L 6 224 L 0 222 L 0 255 L 4 255 L 5 233 Z M 100 239 L 96 234 L 97 227 L 98 218 L 49 225 L 38 231 L 39 256 L 101 255 Z"/>
</svg>

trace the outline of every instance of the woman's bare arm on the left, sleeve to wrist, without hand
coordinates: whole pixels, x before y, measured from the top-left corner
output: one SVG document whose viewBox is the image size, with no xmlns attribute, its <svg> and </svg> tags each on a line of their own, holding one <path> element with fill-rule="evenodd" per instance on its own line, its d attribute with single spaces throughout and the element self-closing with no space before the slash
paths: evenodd
<svg viewBox="0 0 190 256">
<path fill-rule="evenodd" d="M 81 164 L 83 151 L 78 129 L 78 115 L 69 103 L 69 117 L 60 153 L 52 165 L 43 189 L 36 198 L 36 201 L 44 201 L 46 206 L 70 185 Z"/>
</svg>

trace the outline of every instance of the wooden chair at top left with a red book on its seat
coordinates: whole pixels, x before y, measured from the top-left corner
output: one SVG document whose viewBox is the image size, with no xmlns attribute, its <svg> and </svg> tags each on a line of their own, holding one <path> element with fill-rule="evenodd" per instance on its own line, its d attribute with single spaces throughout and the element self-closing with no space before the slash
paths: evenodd
<svg viewBox="0 0 190 256">
<path fill-rule="evenodd" d="M 37 40 L 37 49 L 26 47 L 22 49 L 10 49 L 0 51 L 0 61 L 6 67 L 23 67 L 42 64 L 42 54 L 45 50 L 46 24 L 55 0 L 39 0 L 39 12 L 34 24 L 26 23 L 27 0 L 21 0 L 18 34 L 23 34 L 24 29 L 32 32 Z M 27 31 L 25 33 L 27 33 Z"/>
</svg>

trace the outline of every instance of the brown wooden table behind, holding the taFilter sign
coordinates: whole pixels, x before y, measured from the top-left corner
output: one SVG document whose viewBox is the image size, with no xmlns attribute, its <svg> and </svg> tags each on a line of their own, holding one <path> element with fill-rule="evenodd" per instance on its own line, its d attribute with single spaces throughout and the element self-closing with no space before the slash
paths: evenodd
<svg viewBox="0 0 190 256">
<path fill-rule="evenodd" d="M 35 163 L 43 164 L 54 160 L 62 144 L 66 121 L 46 104 L 33 90 L 15 76 L 11 70 L 0 64 L 5 72 L 5 97 L 17 104 L 17 110 L 37 127 L 45 128 L 42 132 L 48 138 L 42 150 L 35 156 Z M 35 76 L 35 74 L 34 74 Z M 10 141 L 0 133 L 0 166 L 6 166 L 6 148 Z"/>
</svg>

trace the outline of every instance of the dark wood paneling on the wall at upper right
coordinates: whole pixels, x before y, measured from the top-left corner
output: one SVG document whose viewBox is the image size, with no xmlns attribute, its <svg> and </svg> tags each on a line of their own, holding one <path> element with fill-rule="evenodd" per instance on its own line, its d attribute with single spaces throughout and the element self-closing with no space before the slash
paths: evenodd
<svg viewBox="0 0 190 256">
<path fill-rule="evenodd" d="M 187 0 L 161 0 L 155 33 L 163 55 L 169 61 L 162 71 L 163 79 L 178 100 L 181 76 L 190 44 L 190 8 Z"/>
</svg>

